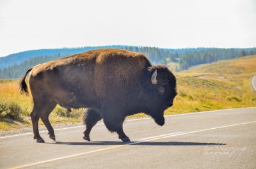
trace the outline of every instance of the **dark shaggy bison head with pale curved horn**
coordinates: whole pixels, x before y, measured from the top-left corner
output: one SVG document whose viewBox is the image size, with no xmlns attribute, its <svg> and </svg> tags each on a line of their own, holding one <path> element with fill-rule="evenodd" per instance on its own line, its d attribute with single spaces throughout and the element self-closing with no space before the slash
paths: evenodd
<svg viewBox="0 0 256 169">
<path fill-rule="evenodd" d="M 150 78 L 149 78 L 150 77 Z M 145 113 L 151 115 L 157 124 L 164 124 L 164 110 L 172 107 L 177 95 L 176 78 L 164 65 L 148 68 L 147 72 L 147 103 Z"/>
</svg>

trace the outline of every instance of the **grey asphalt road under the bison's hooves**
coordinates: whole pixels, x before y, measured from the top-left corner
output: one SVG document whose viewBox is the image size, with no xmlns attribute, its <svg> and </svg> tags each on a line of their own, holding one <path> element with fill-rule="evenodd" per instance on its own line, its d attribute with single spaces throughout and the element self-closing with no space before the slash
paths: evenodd
<svg viewBox="0 0 256 169">
<path fill-rule="evenodd" d="M 0 168 L 256 168 L 256 108 L 126 121 L 132 142 L 120 142 L 99 123 L 83 140 L 84 126 L 0 138 Z"/>
</svg>

